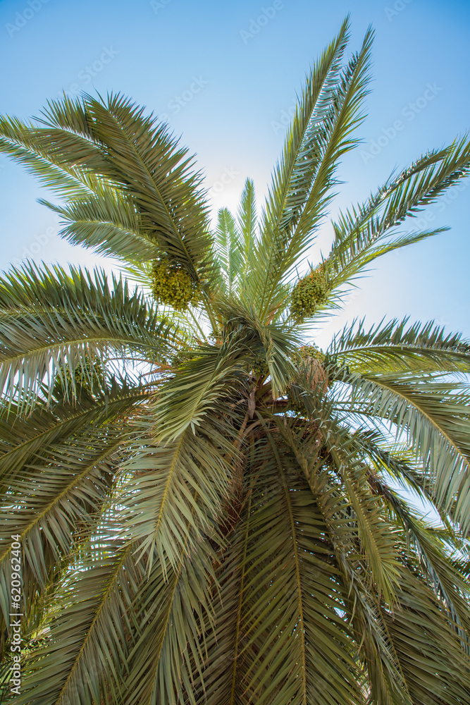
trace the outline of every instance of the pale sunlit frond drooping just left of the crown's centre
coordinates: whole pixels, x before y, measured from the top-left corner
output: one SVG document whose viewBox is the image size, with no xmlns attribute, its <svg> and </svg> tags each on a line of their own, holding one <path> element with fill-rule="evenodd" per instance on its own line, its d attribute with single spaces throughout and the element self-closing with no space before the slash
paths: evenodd
<svg viewBox="0 0 470 705">
<path fill-rule="evenodd" d="M 226 419 L 214 414 L 175 441 L 154 441 L 152 426 L 149 417 L 147 433 L 125 463 L 130 477 L 120 490 L 121 523 L 124 535 L 148 553 L 148 570 L 154 556 L 163 568 L 169 561 L 177 570 L 182 556 L 212 534 L 221 515 L 233 473 L 235 434 Z"/>
</svg>

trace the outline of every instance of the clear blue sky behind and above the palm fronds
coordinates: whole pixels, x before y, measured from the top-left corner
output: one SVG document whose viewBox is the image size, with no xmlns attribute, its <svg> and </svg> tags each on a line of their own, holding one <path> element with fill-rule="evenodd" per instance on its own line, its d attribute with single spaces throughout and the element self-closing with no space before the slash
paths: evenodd
<svg viewBox="0 0 470 705">
<path fill-rule="evenodd" d="M 235 207 L 247 176 L 261 204 L 304 74 L 347 13 L 351 49 L 369 24 L 376 41 L 364 143 L 340 166 L 337 212 L 393 168 L 470 129 L 468 1 L 0 0 L 0 111 L 34 116 L 64 90 L 124 92 L 165 116 L 197 152 L 214 212 Z M 29 255 L 97 262 L 56 237 L 54 216 L 36 202 L 46 195 L 0 156 L 0 269 Z M 312 331 L 319 342 L 363 315 L 371 323 L 435 319 L 470 337 L 469 195 L 454 189 L 420 214 L 419 226 L 451 231 L 378 260 L 345 313 Z M 328 251 L 329 237 L 323 228 L 312 260 Z"/>
</svg>

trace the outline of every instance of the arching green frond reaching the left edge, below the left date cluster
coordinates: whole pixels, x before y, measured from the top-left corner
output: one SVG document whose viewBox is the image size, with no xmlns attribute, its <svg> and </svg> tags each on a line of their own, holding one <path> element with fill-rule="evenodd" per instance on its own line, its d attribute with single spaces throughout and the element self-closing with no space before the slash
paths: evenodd
<svg viewBox="0 0 470 705">
<path fill-rule="evenodd" d="M 104 272 L 28 264 L 0 280 L 0 388 L 23 410 L 46 381 L 49 400 L 57 377 L 75 396 L 76 371 L 92 382 L 89 360 L 113 350 L 157 361 L 174 335 L 142 295 L 114 277 L 111 288 Z"/>
</svg>

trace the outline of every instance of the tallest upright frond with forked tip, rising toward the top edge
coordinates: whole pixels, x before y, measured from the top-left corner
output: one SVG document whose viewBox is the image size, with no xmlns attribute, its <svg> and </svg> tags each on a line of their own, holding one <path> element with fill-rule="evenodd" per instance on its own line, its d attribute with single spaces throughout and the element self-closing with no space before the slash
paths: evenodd
<svg viewBox="0 0 470 705">
<path fill-rule="evenodd" d="M 283 295 L 278 286 L 311 244 L 333 197 L 338 160 L 357 144 L 350 134 L 361 121 L 372 32 L 367 32 L 359 54 L 340 71 L 346 29 L 345 24 L 307 80 L 304 100 L 287 137 L 285 164 L 275 173 L 256 248 L 261 268 L 253 282 L 265 313 L 280 305 L 278 298 Z"/>
</svg>

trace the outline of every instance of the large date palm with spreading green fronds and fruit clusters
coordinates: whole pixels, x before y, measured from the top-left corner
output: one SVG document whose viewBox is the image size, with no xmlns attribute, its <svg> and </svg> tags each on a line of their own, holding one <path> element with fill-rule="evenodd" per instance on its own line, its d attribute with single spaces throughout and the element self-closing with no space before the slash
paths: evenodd
<svg viewBox="0 0 470 705">
<path fill-rule="evenodd" d="M 440 232 L 400 226 L 470 141 L 340 214 L 299 278 L 363 117 L 372 33 L 349 60 L 347 35 L 261 216 L 247 180 L 214 232 L 193 159 L 129 99 L 1 118 L 61 235 L 121 269 L 0 280 L 4 701 L 18 607 L 16 704 L 470 701 L 470 343 L 407 320 L 311 341 L 373 259 Z"/>
</svg>

